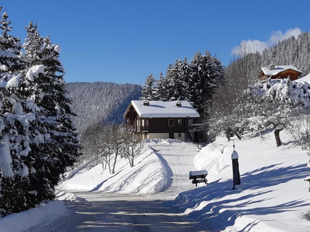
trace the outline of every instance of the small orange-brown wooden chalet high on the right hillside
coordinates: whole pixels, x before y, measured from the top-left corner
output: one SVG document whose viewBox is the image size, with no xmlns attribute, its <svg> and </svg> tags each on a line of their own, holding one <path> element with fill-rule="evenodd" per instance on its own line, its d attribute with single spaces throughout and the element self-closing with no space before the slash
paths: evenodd
<svg viewBox="0 0 310 232">
<path fill-rule="evenodd" d="M 284 79 L 288 76 L 290 80 L 297 80 L 300 75 L 303 73 L 292 65 L 280 65 L 276 66 L 274 64 L 269 65 L 268 67 L 262 67 L 259 73 L 259 79 L 264 80 L 268 79 Z"/>
</svg>

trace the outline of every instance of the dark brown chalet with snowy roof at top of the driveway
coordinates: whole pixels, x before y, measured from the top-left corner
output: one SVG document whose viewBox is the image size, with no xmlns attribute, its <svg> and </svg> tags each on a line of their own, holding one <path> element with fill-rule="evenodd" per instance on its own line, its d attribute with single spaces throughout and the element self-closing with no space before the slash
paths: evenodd
<svg viewBox="0 0 310 232">
<path fill-rule="evenodd" d="M 131 101 L 124 118 L 141 139 L 179 139 L 203 142 L 206 125 L 193 124 L 200 117 L 188 101 Z"/>
</svg>

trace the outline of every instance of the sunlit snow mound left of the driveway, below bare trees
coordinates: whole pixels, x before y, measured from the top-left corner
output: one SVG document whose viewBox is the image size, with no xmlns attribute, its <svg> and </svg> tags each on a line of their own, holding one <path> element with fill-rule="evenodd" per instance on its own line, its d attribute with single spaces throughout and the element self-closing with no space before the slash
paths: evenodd
<svg viewBox="0 0 310 232">
<path fill-rule="evenodd" d="M 152 194 L 162 191 L 168 184 L 169 172 L 161 157 L 150 147 L 143 144 L 141 154 L 135 158 L 134 167 L 128 160 L 120 158 L 115 173 L 109 174 L 98 164 L 92 169 L 71 177 L 58 187 L 67 191 L 103 191 L 136 194 Z"/>
</svg>

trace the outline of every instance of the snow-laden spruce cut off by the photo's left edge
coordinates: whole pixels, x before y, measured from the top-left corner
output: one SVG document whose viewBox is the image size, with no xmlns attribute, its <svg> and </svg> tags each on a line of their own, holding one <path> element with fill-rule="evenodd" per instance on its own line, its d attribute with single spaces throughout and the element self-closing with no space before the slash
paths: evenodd
<svg viewBox="0 0 310 232">
<path fill-rule="evenodd" d="M 0 214 L 1 217 L 33 207 L 33 192 L 29 187 L 29 172 L 33 157 L 29 155 L 29 122 L 33 114 L 24 112 L 26 96 L 31 91 L 30 81 L 24 75 L 26 60 L 21 53 L 20 39 L 9 34 L 11 21 L 2 12 L 0 29 L 0 83 L 2 107 L 0 118 L 0 147 L 3 162 L 0 168 Z M 3 169 L 4 168 L 4 169 Z"/>
</svg>

